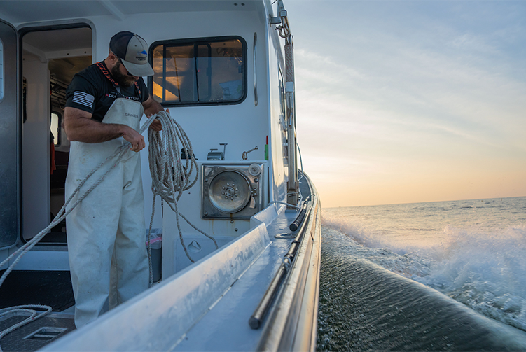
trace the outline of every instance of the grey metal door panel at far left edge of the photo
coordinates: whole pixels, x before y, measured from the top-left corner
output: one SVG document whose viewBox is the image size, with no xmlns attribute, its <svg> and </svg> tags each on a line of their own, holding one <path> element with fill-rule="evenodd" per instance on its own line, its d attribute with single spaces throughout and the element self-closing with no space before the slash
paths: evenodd
<svg viewBox="0 0 526 352">
<path fill-rule="evenodd" d="M 0 248 L 15 246 L 18 240 L 18 75 L 16 30 L 0 20 L 3 56 L 0 100 Z"/>
</svg>

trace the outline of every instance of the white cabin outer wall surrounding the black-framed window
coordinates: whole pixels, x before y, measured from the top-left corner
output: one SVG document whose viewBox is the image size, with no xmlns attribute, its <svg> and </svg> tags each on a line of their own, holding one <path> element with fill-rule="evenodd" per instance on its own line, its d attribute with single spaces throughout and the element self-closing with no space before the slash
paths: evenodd
<svg viewBox="0 0 526 352">
<path fill-rule="evenodd" d="M 258 146 L 258 150 L 249 154 L 249 160 L 265 161 L 266 137 L 270 134 L 268 128 L 268 83 L 265 68 L 265 41 L 258 43 L 258 101 L 254 104 L 254 33 L 258 38 L 265 38 L 265 21 L 258 10 L 222 11 L 222 12 L 186 12 L 186 13 L 156 13 L 145 15 L 129 15 L 125 21 L 115 21 L 110 17 L 94 17 L 92 22 L 97 31 L 97 57 L 102 60 L 108 52 L 109 40 L 118 31 L 130 30 L 142 36 L 148 45 L 156 41 L 167 41 L 184 38 L 207 38 L 217 36 L 241 36 L 247 43 L 247 97 L 242 103 L 223 106 L 186 106 L 172 107 L 170 112 L 191 139 L 195 157 L 199 162 L 207 159 L 210 148 L 220 148 L 219 143 L 226 142 L 226 161 L 239 162 L 242 152 Z M 159 25 L 152 25 L 152 23 Z M 195 25 L 188 25 L 193 23 Z M 151 177 L 148 169 L 148 150 L 141 152 L 143 160 L 143 181 L 145 190 L 145 218 L 149 223 L 152 195 Z M 200 180 L 201 181 L 201 180 Z M 237 226 L 233 232 L 233 224 L 225 220 L 202 220 L 200 218 L 200 181 L 188 190 L 179 202 L 181 213 L 191 222 L 211 234 L 242 234 L 244 227 Z M 154 228 L 162 227 L 160 202 L 155 210 Z M 170 236 L 177 235 L 174 226 L 174 213 L 165 206 L 165 217 L 171 217 L 165 232 Z M 242 220 L 236 220 L 242 222 Z M 183 222 L 184 223 L 184 222 Z M 248 222 L 246 221 L 248 224 Z M 186 228 L 188 235 L 200 235 L 193 229 Z M 177 240 L 179 240 L 177 238 Z"/>
</svg>

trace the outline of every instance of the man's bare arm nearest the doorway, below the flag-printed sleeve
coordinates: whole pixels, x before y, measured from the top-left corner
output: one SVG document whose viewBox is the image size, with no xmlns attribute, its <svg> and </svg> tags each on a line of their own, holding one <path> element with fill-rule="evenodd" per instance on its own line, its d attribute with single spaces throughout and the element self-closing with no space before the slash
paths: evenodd
<svg viewBox="0 0 526 352">
<path fill-rule="evenodd" d="M 92 120 L 91 117 L 92 114 L 87 111 L 66 106 L 64 109 L 64 130 L 68 141 L 101 143 L 123 137 L 132 143 L 130 150 L 134 152 L 138 152 L 146 146 L 144 137 L 132 127 L 114 123 L 100 123 Z"/>
</svg>

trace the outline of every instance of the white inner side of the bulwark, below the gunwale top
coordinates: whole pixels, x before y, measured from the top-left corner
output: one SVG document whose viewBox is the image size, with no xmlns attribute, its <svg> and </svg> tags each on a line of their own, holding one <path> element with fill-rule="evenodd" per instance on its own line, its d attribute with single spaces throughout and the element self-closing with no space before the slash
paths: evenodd
<svg viewBox="0 0 526 352">
<path fill-rule="evenodd" d="M 73 351 L 78 346 L 89 351 L 129 351 L 131 346 L 171 351 L 269 245 L 266 226 L 261 222 L 218 252 L 109 311 L 96 324 L 47 345 L 43 351 Z M 137 316 L 142 317 L 140 321 Z M 123 321 L 136 323 L 123 331 L 119 328 Z M 161 334 L 162 338 L 151 338 L 168 331 Z M 114 339 L 115 334 L 120 338 Z"/>
</svg>

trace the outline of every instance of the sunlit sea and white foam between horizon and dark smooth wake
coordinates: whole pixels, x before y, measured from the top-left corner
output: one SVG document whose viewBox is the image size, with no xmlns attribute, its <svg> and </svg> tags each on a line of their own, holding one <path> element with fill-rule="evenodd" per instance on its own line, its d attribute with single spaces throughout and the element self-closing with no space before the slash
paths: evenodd
<svg viewBox="0 0 526 352">
<path fill-rule="evenodd" d="M 427 223 L 422 223 L 422 209 L 415 216 L 415 206 L 327 209 L 324 234 L 342 232 L 351 239 L 349 255 L 371 260 L 526 331 L 526 225 L 509 218 L 496 225 L 501 213 L 488 211 L 490 202 L 476 204 L 479 208 L 474 211 L 473 205 L 457 203 L 450 202 Z M 443 213 L 451 207 L 471 211 L 470 220 L 448 221 Z M 375 211 L 382 216 L 372 216 Z M 448 223 L 455 225 L 444 225 Z"/>
</svg>

